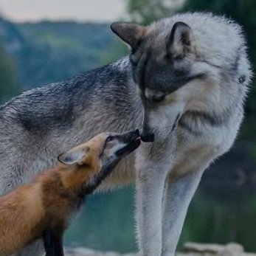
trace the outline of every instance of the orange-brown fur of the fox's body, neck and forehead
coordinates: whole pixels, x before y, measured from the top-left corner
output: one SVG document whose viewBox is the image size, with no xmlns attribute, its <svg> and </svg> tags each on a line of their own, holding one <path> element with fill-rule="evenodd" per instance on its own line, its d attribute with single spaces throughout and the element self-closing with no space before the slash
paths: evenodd
<svg viewBox="0 0 256 256">
<path fill-rule="evenodd" d="M 0 256 L 11 255 L 41 238 L 45 229 L 66 229 L 70 215 L 83 202 L 77 193 L 100 170 L 105 138 L 106 134 L 100 134 L 72 149 L 89 151 L 79 163 L 45 170 L 32 183 L 0 198 Z"/>
</svg>

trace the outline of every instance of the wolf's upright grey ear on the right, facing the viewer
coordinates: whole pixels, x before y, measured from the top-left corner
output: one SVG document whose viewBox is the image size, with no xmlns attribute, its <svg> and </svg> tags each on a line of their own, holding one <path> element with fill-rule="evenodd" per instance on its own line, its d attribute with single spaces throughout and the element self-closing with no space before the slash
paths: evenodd
<svg viewBox="0 0 256 256">
<path fill-rule="evenodd" d="M 195 51 L 196 41 L 190 26 L 181 21 L 176 22 L 167 39 L 167 52 L 182 58 Z"/>
</svg>

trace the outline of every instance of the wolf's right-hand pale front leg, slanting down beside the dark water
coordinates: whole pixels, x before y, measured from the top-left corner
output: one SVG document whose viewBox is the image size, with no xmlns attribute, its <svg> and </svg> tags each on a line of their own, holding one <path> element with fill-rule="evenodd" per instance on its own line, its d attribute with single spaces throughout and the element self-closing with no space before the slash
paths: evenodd
<svg viewBox="0 0 256 256">
<path fill-rule="evenodd" d="M 183 176 L 170 176 L 165 190 L 162 222 L 162 256 L 175 255 L 187 208 L 198 187 L 204 168 Z"/>
</svg>

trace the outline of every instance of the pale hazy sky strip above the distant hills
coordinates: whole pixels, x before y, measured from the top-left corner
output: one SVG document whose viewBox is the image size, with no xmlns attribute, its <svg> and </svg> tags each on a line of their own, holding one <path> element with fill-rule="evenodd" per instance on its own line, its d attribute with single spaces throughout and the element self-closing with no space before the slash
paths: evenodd
<svg viewBox="0 0 256 256">
<path fill-rule="evenodd" d="M 0 0 L 0 13 L 13 21 L 115 21 L 125 15 L 125 0 Z"/>
</svg>

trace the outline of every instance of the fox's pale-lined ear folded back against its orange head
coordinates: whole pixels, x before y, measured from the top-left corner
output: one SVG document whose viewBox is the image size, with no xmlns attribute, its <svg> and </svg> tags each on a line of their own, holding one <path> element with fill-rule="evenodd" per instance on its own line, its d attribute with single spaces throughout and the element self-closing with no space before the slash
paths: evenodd
<svg viewBox="0 0 256 256">
<path fill-rule="evenodd" d="M 83 163 L 86 162 L 86 156 L 88 155 L 88 148 L 73 148 L 72 150 L 67 151 L 66 153 L 61 153 L 60 156 L 58 156 L 58 161 L 65 165 L 82 165 Z"/>
</svg>

